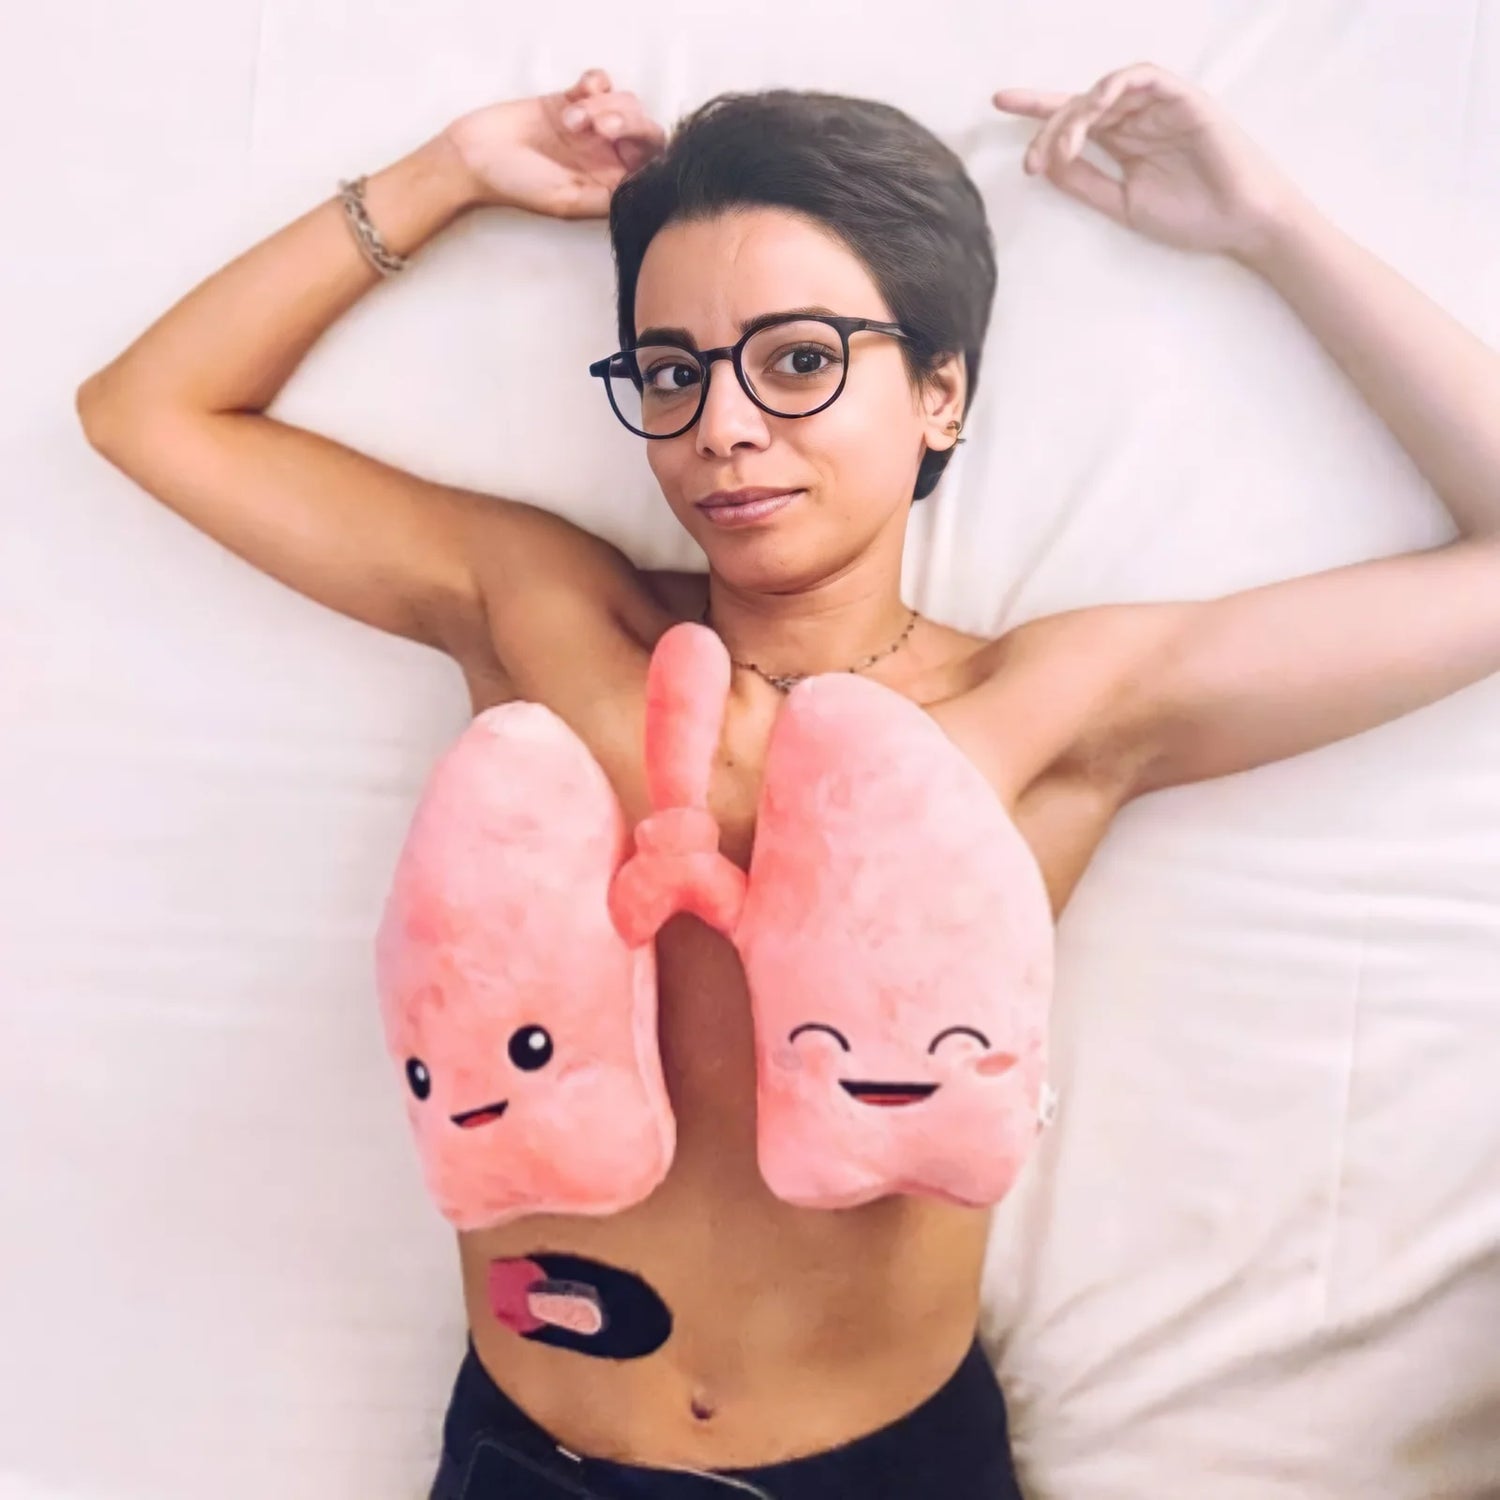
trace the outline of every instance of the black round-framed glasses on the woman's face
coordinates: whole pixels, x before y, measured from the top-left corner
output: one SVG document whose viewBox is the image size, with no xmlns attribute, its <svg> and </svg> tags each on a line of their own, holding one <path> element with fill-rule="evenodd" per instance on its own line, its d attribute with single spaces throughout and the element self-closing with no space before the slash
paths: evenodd
<svg viewBox="0 0 1500 1500">
<path fill-rule="evenodd" d="M 832 315 L 768 314 L 736 344 L 690 350 L 638 344 L 590 364 L 604 382 L 615 416 L 638 436 L 678 438 L 704 412 L 714 360 L 729 360 L 744 393 L 772 417 L 826 411 L 849 380 L 849 334 L 910 339 L 898 322 Z"/>
</svg>

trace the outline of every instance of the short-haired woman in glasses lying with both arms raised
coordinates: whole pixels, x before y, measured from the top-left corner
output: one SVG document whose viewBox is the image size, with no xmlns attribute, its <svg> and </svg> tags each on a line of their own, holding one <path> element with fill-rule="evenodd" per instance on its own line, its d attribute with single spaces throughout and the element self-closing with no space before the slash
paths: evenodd
<svg viewBox="0 0 1500 1500">
<path fill-rule="evenodd" d="M 1056 914 L 1131 798 L 1358 734 L 1500 668 L 1500 360 L 1320 218 L 1191 84 L 1138 64 L 1083 94 L 1005 90 L 994 105 L 1042 122 L 1026 171 L 1275 286 L 1431 480 L 1458 538 L 1212 602 L 1068 610 L 998 640 L 914 616 L 898 592 L 906 516 L 958 440 L 994 280 L 972 183 L 882 105 L 728 99 L 668 142 L 597 70 L 465 116 L 374 176 L 356 232 L 358 207 L 346 224 L 326 202 L 208 278 L 86 382 L 87 435 L 255 566 L 448 652 L 476 712 L 550 706 L 632 819 L 650 812 L 652 645 L 708 620 L 738 668 L 711 801 L 741 864 L 784 690 L 862 670 L 982 771 Z M 1080 158 L 1089 140 L 1119 180 Z M 376 262 L 396 267 L 492 204 L 610 213 L 622 352 L 596 374 L 648 440 L 706 579 L 644 573 L 556 516 L 264 414 L 375 285 Z M 795 309 L 873 327 L 800 328 L 783 356 L 756 320 Z M 650 390 L 670 398 L 651 411 L 630 378 L 646 344 L 669 356 L 651 362 L 668 374 Z M 705 364 L 705 351 L 729 357 Z M 772 390 L 772 372 L 813 376 L 825 362 L 840 384 L 816 410 Z M 678 918 L 657 952 L 670 1173 L 606 1220 L 460 1236 L 471 1348 L 434 1496 L 1016 1494 L 1004 1404 L 975 1347 L 987 1215 L 772 1197 L 756 1170 L 734 950 Z M 591 1352 L 586 1329 L 549 1342 L 504 1318 L 495 1268 L 543 1251 L 556 1328 L 582 1286 L 627 1323 L 664 1305 L 670 1338 Z"/>
</svg>

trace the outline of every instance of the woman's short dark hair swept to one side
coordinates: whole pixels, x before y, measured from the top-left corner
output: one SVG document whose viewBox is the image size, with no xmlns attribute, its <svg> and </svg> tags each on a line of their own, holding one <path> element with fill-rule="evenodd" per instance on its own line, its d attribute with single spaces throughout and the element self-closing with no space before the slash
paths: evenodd
<svg viewBox="0 0 1500 1500">
<path fill-rule="evenodd" d="M 748 206 L 794 210 L 843 240 L 912 333 L 902 340 L 912 381 L 963 354 L 968 411 L 994 300 L 984 200 L 932 130 L 874 99 L 723 93 L 680 120 L 609 206 L 621 348 L 634 342 L 636 284 L 657 232 Z M 952 448 L 922 456 L 914 500 L 936 489 L 951 458 Z"/>
</svg>

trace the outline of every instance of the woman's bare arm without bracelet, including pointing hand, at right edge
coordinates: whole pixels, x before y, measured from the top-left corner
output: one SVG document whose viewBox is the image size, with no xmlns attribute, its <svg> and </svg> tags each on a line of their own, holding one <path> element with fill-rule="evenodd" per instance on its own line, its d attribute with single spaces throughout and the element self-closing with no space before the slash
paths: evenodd
<svg viewBox="0 0 1500 1500">
<path fill-rule="evenodd" d="M 1054 734 L 1062 759 L 1138 795 L 1344 740 L 1500 672 L 1500 354 L 1318 213 L 1184 80 L 1143 63 L 1072 99 L 1005 90 L 996 102 L 1047 118 L 1029 165 L 1058 186 L 1264 278 L 1458 531 L 1444 546 L 1204 603 L 1022 626 L 1012 662 L 1076 663 Z M 1088 138 L 1114 156 L 1119 180 L 1078 156 Z"/>
</svg>

